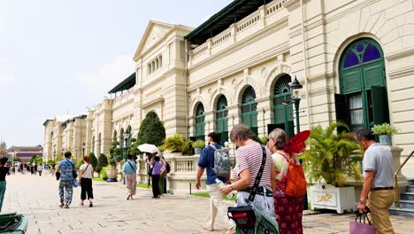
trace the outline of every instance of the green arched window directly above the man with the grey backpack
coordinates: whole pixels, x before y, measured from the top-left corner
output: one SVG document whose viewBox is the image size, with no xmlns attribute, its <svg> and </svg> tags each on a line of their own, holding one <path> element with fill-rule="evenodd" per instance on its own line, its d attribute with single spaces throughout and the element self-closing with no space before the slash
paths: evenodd
<svg viewBox="0 0 414 234">
<path fill-rule="evenodd" d="M 227 99 L 224 95 L 221 95 L 217 101 L 216 106 L 217 133 L 219 133 L 221 145 L 224 145 L 225 142 L 228 142 L 227 113 Z"/>
</svg>

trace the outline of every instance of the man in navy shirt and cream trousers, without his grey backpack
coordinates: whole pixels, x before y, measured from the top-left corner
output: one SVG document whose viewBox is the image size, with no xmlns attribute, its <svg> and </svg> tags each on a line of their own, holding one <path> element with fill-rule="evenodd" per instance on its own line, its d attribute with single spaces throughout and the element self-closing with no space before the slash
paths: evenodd
<svg viewBox="0 0 414 234">
<path fill-rule="evenodd" d="M 219 179 L 222 183 L 230 183 L 230 169 L 228 168 L 228 175 L 218 176 L 214 173 L 214 152 L 216 149 L 222 149 L 223 147 L 219 144 L 219 135 L 215 132 L 211 132 L 207 136 L 207 143 L 198 160 L 198 170 L 196 177 L 196 189 L 199 190 L 201 186 L 201 177 L 203 176 L 204 170 L 207 170 L 207 180 L 205 182 L 207 191 L 210 195 L 210 212 L 207 215 L 207 223 L 203 226 L 204 230 L 214 230 L 214 222 L 219 211 L 220 219 L 227 224 L 227 233 L 234 232 L 234 222 L 227 217 L 226 203 L 223 201 L 223 196 L 219 191 L 219 183 L 216 179 Z M 224 149 L 224 148 L 223 148 Z"/>
</svg>

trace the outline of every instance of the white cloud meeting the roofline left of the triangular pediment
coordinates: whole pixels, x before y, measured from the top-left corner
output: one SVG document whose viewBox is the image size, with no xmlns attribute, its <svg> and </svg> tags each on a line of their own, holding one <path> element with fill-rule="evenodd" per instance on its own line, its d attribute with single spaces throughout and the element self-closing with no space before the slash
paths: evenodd
<svg viewBox="0 0 414 234">
<path fill-rule="evenodd" d="M 111 63 L 101 66 L 96 73 L 81 74 L 78 82 L 86 88 L 102 90 L 104 94 L 132 73 L 134 73 L 132 56 L 119 56 L 113 58 Z"/>
</svg>

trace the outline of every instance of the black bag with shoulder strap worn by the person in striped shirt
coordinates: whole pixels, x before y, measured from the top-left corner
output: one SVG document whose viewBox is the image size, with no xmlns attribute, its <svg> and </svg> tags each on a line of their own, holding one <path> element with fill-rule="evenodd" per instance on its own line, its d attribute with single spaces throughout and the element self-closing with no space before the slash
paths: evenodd
<svg viewBox="0 0 414 234">
<path fill-rule="evenodd" d="M 260 166 L 259 171 L 257 172 L 256 180 L 253 185 L 253 188 L 250 190 L 249 202 L 255 200 L 257 189 L 262 179 L 263 170 L 265 169 L 266 163 L 266 151 L 265 146 L 262 145 L 263 158 L 262 165 Z M 231 215 L 230 215 L 231 214 Z M 227 217 L 234 220 L 235 224 L 239 228 L 252 228 L 256 223 L 256 215 L 253 207 L 251 205 L 241 206 L 241 207 L 228 207 L 227 208 Z"/>
</svg>

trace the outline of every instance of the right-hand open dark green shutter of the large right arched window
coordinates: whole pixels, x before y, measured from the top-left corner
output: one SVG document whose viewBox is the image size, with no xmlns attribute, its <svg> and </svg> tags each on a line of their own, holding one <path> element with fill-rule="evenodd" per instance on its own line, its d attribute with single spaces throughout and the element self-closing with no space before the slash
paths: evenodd
<svg viewBox="0 0 414 234">
<path fill-rule="evenodd" d="M 387 90 L 384 86 L 371 87 L 372 119 L 374 124 L 389 122 Z"/>
</svg>

